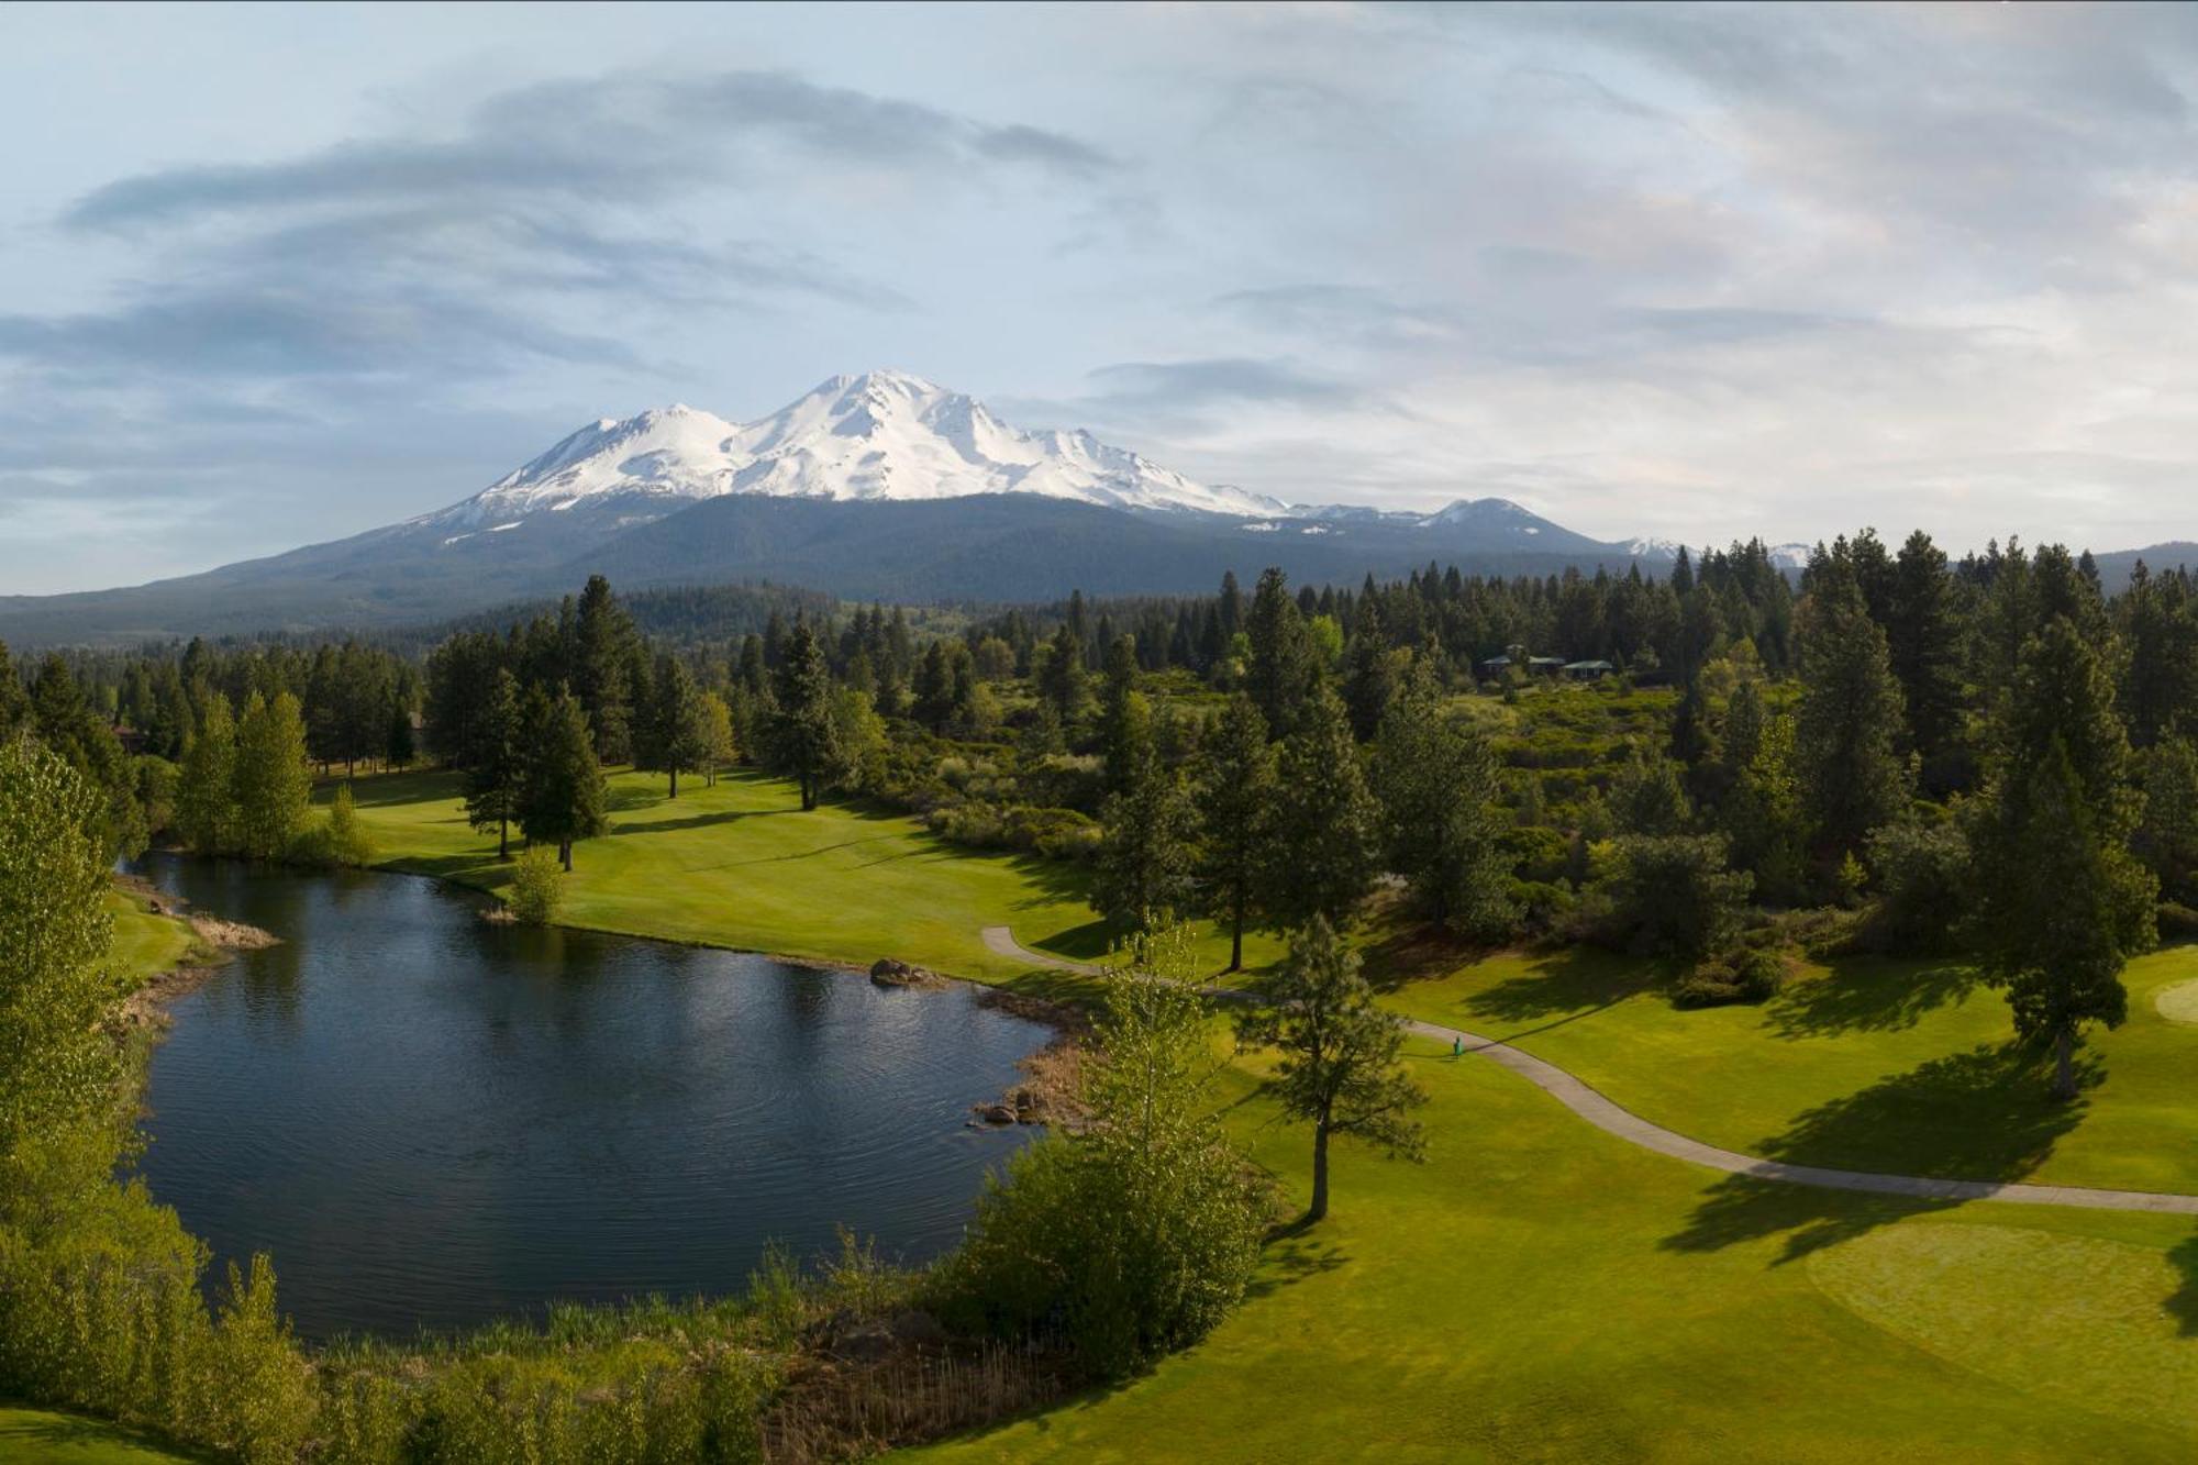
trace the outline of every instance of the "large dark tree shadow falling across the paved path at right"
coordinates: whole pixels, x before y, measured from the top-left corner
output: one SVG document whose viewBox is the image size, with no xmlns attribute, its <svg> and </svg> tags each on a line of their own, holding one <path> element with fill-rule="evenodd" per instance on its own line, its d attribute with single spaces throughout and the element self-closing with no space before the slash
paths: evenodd
<svg viewBox="0 0 2198 1465">
<path fill-rule="evenodd" d="M 2049 1071 L 2051 1058 L 2038 1049 L 1985 1043 L 1818 1104 L 1756 1153 L 1831 1170 L 2016 1181 L 2044 1164 L 2088 1111 L 2086 1098 L 2055 1100 Z M 2084 1058 L 2077 1082 L 2084 1089 L 2101 1082 L 2097 1058 Z M 1710 1186 L 1686 1227 L 1662 1247 L 1719 1252 L 1785 1236 L 1778 1260 L 1789 1263 L 1903 1216 L 1961 1203 L 1732 1175 Z"/>
</svg>

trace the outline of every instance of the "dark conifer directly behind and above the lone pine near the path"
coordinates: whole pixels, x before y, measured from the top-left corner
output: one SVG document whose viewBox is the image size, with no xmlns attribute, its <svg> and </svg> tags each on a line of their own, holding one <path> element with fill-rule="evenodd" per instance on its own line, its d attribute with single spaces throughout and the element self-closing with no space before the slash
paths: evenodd
<svg viewBox="0 0 2198 1465">
<path fill-rule="evenodd" d="M 1281 741 L 1259 908 L 1290 930 L 1325 917 L 1350 924 L 1374 889 L 1380 805 L 1367 792 L 1341 697 L 1319 686 Z"/>
</svg>

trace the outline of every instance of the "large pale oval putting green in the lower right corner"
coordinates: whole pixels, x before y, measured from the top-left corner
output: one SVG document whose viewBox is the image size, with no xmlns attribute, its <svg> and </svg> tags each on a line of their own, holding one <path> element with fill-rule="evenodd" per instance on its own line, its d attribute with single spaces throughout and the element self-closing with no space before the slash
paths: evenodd
<svg viewBox="0 0 2198 1465">
<path fill-rule="evenodd" d="M 2180 1263 L 2180 1265 L 2178 1265 Z M 1895 1225 L 1809 1258 L 1925 1353 L 2119 1419 L 2198 1428 L 2198 1258 L 2011 1225 Z"/>
</svg>

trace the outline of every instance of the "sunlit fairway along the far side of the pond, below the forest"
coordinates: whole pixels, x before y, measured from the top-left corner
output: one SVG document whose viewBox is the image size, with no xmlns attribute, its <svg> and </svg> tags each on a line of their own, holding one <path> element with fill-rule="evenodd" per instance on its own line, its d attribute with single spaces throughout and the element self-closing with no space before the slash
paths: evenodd
<svg viewBox="0 0 2198 1465">
<path fill-rule="evenodd" d="M 1106 955 L 1070 864 L 976 853 L 862 805 L 804 814 L 791 783 L 761 774 L 681 779 L 677 801 L 664 787 L 657 774 L 611 774 L 611 834 L 574 849 L 565 922 L 857 966 L 899 957 L 987 981 L 1029 968 L 985 950 L 985 926 L 1013 926 L 1033 950 Z M 352 792 L 389 869 L 488 891 L 510 880 L 495 838 L 466 825 L 455 776 L 360 779 Z M 1253 950 L 1273 955 L 1264 941 Z M 1202 957 L 1218 970 L 1226 955 L 1209 933 Z"/>
</svg>

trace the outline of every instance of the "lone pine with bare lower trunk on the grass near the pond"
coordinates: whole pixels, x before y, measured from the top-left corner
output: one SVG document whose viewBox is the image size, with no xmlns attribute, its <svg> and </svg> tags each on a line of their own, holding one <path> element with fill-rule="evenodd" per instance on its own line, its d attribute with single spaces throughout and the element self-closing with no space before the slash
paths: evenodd
<svg viewBox="0 0 2198 1465">
<path fill-rule="evenodd" d="M 1391 1157 L 1420 1159 L 1420 1124 L 1407 1117 L 1427 1093 L 1398 1058 L 1405 1023 L 1374 1005 L 1374 988 L 1323 917 L 1290 941 L 1290 955 L 1257 985 L 1259 1007 L 1237 1034 L 1281 1049 L 1275 1098 L 1312 1126 L 1312 1201 L 1306 1221 L 1328 1216 L 1328 1142 L 1361 1139 Z"/>
</svg>

